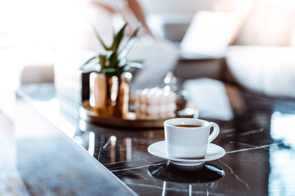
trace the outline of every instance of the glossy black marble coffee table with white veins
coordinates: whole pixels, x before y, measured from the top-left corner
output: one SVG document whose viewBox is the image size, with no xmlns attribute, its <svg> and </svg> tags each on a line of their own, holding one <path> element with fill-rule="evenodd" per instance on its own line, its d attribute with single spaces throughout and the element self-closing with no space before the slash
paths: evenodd
<svg viewBox="0 0 295 196">
<path fill-rule="evenodd" d="M 17 94 L 44 118 L 35 132 L 46 131 L 19 139 L 20 173 L 35 195 L 295 195 L 295 101 L 226 92 L 233 119 L 205 119 L 219 125 L 213 143 L 226 155 L 185 167 L 148 153 L 150 144 L 164 140 L 163 129 L 87 123 L 79 119 L 80 102 L 57 94 L 53 84 L 24 85 Z M 28 110 L 23 119 L 32 118 Z M 21 126 L 38 122 L 34 117 Z"/>
</svg>

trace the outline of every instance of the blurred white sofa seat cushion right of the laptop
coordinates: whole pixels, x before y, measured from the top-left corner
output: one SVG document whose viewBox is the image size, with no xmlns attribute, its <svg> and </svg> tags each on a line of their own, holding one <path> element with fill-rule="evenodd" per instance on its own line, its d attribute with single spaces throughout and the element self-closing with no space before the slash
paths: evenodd
<svg viewBox="0 0 295 196">
<path fill-rule="evenodd" d="M 268 96 L 295 98 L 295 48 L 229 46 L 226 63 L 243 87 Z"/>
</svg>

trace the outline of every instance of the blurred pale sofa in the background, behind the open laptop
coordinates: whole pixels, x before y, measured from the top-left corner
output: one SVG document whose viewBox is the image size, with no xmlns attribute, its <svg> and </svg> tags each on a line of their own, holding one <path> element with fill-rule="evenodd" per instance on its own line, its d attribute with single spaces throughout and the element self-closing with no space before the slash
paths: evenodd
<svg viewBox="0 0 295 196">
<path fill-rule="evenodd" d="M 180 9 L 173 9 L 174 1 L 169 1 L 168 8 L 162 5 L 168 2 L 161 1 L 156 9 L 145 0 L 141 2 L 146 5 L 153 33 L 173 42 L 182 40 L 194 12 L 199 9 L 235 12 L 240 16 L 240 24 L 224 58 L 180 60 L 176 76 L 209 77 L 267 96 L 295 98 L 294 1 L 181 2 L 189 5 L 187 9 L 179 2 Z"/>
</svg>

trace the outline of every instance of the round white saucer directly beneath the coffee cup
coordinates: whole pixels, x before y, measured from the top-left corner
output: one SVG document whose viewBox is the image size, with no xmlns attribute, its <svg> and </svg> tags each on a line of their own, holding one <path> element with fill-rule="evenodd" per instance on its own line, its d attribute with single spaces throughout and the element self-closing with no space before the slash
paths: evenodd
<svg viewBox="0 0 295 196">
<path fill-rule="evenodd" d="M 148 147 L 148 152 L 156 157 L 169 160 L 176 165 L 194 166 L 201 165 L 205 161 L 213 161 L 222 158 L 225 155 L 225 150 L 219 145 L 209 143 L 207 155 L 203 159 L 178 159 L 171 158 L 166 155 L 165 140 L 151 144 Z"/>
</svg>

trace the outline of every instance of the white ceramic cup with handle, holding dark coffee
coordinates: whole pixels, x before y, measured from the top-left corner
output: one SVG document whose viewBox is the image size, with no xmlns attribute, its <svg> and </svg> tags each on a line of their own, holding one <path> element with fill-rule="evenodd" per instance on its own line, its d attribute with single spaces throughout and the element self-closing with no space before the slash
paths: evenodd
<svg viewBox="0 0 295 196">
<path fill-rule="evenodd" d="M 177 127 L 197 125 L 200 127 Z M 210 128 L 213 132 L 210 134 Z M 166 153 L 171 158 L 201 159 L 207 154 L 208 143 L 219 134 L 216 123 L 194 118 L 173 118 L 164 122 Z"/>
</svg>

